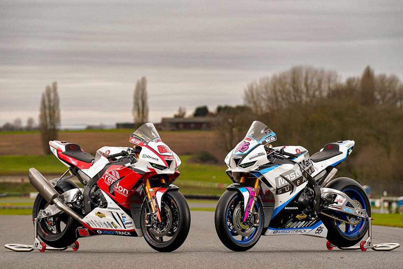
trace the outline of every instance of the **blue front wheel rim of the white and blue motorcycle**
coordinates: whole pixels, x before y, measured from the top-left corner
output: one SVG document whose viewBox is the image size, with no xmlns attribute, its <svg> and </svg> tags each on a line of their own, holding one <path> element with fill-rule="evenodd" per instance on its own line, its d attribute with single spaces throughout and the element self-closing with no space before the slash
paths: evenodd
<svg viewBox="0 0 403 269">
<path fill-rule="evenodd" d="M 253 211 L 258 212 L 259 217 L 260 217 L 260 221 L 259 221 L 259 227 L 252 227 L 253 231 L 250 235 L 248 236 L 241 236 L 237 233 L 235 225 L 237 225 L 236 223 L 233 223 L 233 213 L 236 209 L 236 206 L 238 204 L 242 204 L 241 201 L 238 201 L 238 195 L 235 195 L 232 197 L 232 199 L 230 200 L 230 202 L 228 203 L 227 209 L 226 209 L 226 227 L 227 227 L 227 233 L 229 234 L 229 236 L 231 237 L 231 239 L 234 242 L 240 243 L 240 244 L 247 244 L 252 242 L 252 240 L 255 238 L 255 236 L 258 234 L 257 231 L 259 230 L 259 228 L 261 227 L 261 223 L 262 223 L 262 213 L 259 210 L 259 207 L 257 205 L 257 203 L 254 204 L 253 207 Z M 243 208 L 243 207 L 242 207 Z M 243 211 L 241 211 L 243 212 Z M 241 226 L 245 227 L 244 225 Z M 245 229 L 246 230 L 246 229 Z"/>
</svg>

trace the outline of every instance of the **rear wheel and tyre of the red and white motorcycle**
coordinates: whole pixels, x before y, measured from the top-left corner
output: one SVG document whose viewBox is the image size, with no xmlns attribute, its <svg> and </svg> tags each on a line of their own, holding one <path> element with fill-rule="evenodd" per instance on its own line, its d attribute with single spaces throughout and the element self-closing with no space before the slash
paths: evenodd
<svg viewBox="0 0 403 269">
<path fill-rule="evenodd" d="M 48 202 L 41 194 L 36 196 L 32 209 L 32 218 L 38 216 L 40 210 L 45 209 Z M 52 247 L 67 247 L 76 240 L 76 228 L 79 223 L 65 213 L 38 220 L 38 236 L 43 242 Z"/>
</svg>

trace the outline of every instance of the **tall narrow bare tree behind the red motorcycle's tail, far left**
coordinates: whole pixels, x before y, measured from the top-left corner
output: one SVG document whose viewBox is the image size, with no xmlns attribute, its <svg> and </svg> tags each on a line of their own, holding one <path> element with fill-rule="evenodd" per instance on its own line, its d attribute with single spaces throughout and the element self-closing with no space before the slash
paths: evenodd
<svg viewBox="0 0 403 269">
<path fill-rule="evenodd" d="M 57 139 L 57 132 L 60 125 L 59 95 L 57 93 L 57 82 L 46 86 L 42 93 L 41 110 L 39 123 L 44 153 L 49 154 L 49 141 Z"/>
</svg>

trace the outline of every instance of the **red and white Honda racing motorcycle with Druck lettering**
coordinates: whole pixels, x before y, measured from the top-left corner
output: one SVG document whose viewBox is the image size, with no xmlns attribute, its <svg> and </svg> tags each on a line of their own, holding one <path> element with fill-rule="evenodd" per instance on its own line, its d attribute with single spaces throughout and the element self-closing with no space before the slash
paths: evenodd
<svg viewBox="0 0 403 269">
<path fill-rule="evenodd" d="M 144 235 L 153 249 L 162 252 L 185 241 L 189 207 L 172 184 L 179 176 L 178 156 L 161 141 L 152 123 L 142 125 L 129 141 L 133 148 L 102 147 L 95 158 L 77 144 L 49 142 L 68 170 L 48 181 L 29 169 L 29 181 L 39 191 L 32 216 L 41 251 L 46 244 L 77 248 L 77 238 L 94 235 Z"/>
</svg>

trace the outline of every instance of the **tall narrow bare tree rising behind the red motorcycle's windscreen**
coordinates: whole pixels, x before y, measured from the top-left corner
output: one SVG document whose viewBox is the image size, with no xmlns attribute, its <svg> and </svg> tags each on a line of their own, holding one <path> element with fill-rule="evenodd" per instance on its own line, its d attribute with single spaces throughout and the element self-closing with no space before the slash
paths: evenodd
<svg viewBox="0 0 403 269">
<path fill-rule="evenodd" d="M 136 82 L 133 97 L 134 124 L 139 126 L 149 120 L 149 104 L 147 95 L 147 79 L 142 77 Z"/>
</svg>

